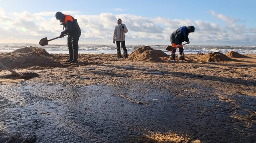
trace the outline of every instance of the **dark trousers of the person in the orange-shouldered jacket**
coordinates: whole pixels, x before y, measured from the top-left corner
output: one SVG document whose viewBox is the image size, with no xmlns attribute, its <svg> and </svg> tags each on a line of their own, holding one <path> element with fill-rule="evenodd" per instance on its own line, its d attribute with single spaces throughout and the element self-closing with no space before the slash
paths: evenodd
<svg viewBox="0 0 256 143">
<path fill-rule="evenodd" d="M 72 34 L 68 34 L 68 49 L 78 51 L 78 41 L 81 36 L 81 31 L 74 31 Z"/>
</svg>

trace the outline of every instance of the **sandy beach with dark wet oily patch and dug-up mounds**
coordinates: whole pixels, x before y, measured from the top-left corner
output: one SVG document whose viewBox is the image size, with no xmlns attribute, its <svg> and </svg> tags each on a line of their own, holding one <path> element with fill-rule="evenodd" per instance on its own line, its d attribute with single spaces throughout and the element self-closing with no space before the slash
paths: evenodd
<svg viewBox="0 0 256 143">
<path fill-rule="evenodd" d="M 0 63 L 38 77 L 0 71 L 0 142 L 253 143 L 256 55 L 207 54 L 172 62 L 145 47 L 69 64 L 35 47 L 1 53 Z"/>
</svg>

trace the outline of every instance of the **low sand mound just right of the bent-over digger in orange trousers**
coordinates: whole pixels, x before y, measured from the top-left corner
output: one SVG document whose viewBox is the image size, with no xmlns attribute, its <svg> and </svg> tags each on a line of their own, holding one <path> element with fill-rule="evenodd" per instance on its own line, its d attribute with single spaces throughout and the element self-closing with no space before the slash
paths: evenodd
<svg viewBox="0 0 256 143">
<path fill-rule="evenodd" d="M 220 53 L 220 52 L 213 52 L 205 54 L 198 58 L 200 61 L 206 62 L 222 62 L 222 61 L 232 61 L 228 56 Z"/>
</svg>

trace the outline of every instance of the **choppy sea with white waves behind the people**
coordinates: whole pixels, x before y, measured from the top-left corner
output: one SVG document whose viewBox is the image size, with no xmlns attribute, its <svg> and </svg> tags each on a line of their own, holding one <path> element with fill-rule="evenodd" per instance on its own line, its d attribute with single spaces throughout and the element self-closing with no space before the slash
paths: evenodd
<svg viewBox="0 0 256 143">
<path fill-rule="evenodd" d="M 66 44 L 49 44 L 46 46 L 40 46 L 39 44 L 29 44 L 29 43 L 0 43 L 0 52 L 12 52 L 16 49 L 24 47 L 40 47 L 45 49 L 48 53 L 68 53 L 68 47 Z M 164 51 L 166 54 L 170 54 L 169 51 L 165 50 L 166 45 L 126 45 L 128 54 L 132 51 L 142 47 L 150 46 L 153 49 L 158 49 Z M 256 54 L 256 46 L 210 46 L 210 45 L 184 45 L 184 53 L 212 53 L 220 52 L 226 54 L 229 51 L 238 52 L 240 54 Z M 92 53 L 92 54 L 116 54 L 116 45 L 88 45 L 88 44 L 79 44 L 79 53 Z"/>
</svg>

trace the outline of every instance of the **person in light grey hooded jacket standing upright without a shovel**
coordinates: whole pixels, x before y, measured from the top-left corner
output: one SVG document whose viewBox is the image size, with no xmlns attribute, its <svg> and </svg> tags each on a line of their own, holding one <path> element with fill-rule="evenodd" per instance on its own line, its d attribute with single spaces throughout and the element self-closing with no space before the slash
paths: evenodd
<svg viewBox="0 0 256 143">
<path fill-rule="evenodd" d="M 120 52 L 120 43 L 124 50 L 124 57 L 128 58 L 127 49 L 125 47 L 125 35 L 124 35 L 124 33 L 127 33 L 127 32 L 128 32 L 128 29 L 126 25 L 122 24 L 122 20 L 118 18 L 117 25 L 114 29 L 114 35 L 113 35 L 113 43 L 115 43 L 116 41 L 118 58 L 123 58 Z"/>
</svg>

